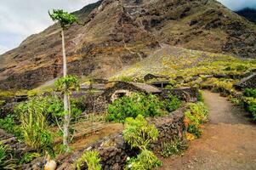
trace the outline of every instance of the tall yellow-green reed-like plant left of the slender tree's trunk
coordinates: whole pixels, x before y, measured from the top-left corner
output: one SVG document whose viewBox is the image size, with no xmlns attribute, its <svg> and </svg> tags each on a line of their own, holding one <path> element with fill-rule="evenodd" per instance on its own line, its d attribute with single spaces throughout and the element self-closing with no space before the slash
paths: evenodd
<svg viewBox="0 0 256 170">
<path fill-rule="evenodd" d="M 20 129 L 26 144 L 37 151 L 52 150 L 53 139 L 46 121 L 48 100 L 42 97 L 20 103 L 14 112 L 19 116 Z M 52 152 L 52 151 L 51 151 Z"/>
</svg>

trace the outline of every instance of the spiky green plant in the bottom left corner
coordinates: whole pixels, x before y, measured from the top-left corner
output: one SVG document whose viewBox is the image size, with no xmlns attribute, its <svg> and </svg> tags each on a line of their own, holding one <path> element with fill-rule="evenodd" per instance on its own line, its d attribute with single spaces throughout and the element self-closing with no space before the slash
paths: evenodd
<svg viewBox="0 0 256 170">
<path fill-rule="evenodd" d="M 8 145 L 0 143 L 0 169 L 16 169 L 16 160 L 11 154 Z"/>
</svg>

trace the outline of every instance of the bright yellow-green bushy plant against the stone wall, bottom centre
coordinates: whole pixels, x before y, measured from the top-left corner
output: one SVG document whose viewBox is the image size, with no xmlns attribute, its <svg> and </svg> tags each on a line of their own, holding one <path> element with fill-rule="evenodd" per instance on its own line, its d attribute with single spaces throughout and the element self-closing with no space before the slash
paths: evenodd
<svg viewBox="0 0 256 170">
<path fill-rule="evenodd" d="M 131 147 L 140 149 L 139 155 L 128 161 L 126 169 L 151 170 L 162 165 L 162 162 L 158 160 L 154 153 L 148 150 L 151 141 L 156 141 L 158 137 L 158 130 L 155 125 L 148 124 L 141 115 L 135 119 L 129 117 L 126 119 L 122 135 Z"/>
</svg>

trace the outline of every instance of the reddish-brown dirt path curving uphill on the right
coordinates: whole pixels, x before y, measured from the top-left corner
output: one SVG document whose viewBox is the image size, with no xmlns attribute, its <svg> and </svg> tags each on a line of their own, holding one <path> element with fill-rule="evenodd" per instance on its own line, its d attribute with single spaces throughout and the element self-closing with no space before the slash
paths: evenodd
<svg viewBox="0 0 256 170">
<path fill-rule="evenodd" d="M 209 121 L 200 139 L 193 140 L 184 156 L 162 159 L 161 170 L 256 169 L 256 125 L 247 113 L 226 98 L 208 91 L 203 97 Z"/>
</svg>

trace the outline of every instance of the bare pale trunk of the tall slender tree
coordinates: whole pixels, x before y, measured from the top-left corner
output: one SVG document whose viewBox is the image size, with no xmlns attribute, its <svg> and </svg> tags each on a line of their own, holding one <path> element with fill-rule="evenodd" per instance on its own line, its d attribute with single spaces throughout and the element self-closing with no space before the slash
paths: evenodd
<svg viewBox="0 0 256 170">
<path fill-rule="evenodd" d="M 64 29 L 61 30 L 62 37 L 62 52 L 63 52 L 63 77 L 66 77 L 67 68 L 66 68 L 66 56 L 65 56 L 65 38 L 64 38 Z M 64 124 L 63 124 L 63 144 L 65 145 L 65 151 L 69 151 L 68 137 L 69 137 L 69 123 L 70 123 L 70 109 L 69 109 L 69 98 L 67 94 L 64 94 Z"/>
</svg>

